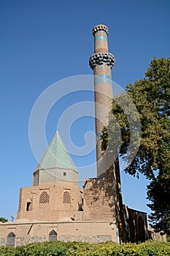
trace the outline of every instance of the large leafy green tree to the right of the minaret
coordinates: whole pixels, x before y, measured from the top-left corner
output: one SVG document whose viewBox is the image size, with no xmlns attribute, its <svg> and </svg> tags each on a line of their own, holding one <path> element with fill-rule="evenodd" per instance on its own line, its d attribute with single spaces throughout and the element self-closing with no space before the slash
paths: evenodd
<svg viewBox="0 0 170 256">
<path fill-rule="evenodd" d="M 129 83 L 125 93 L 114 97 L 108 127 L 104 127 L 101 135 L 101 148 L 114 148 L 121 132 L 118 151 L 128 164 L 125 172 L 133 176 L 142 173 L 150 180 L 149 218 L 156 231 L 167 234 L 170 234 L 169 127 L 170 59 L 154 58 L 144 79 Z"/>
</svg>

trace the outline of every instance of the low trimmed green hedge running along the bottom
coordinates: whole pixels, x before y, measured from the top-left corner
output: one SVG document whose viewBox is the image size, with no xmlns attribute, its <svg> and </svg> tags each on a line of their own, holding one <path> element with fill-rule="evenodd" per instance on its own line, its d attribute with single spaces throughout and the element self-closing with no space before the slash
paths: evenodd
<svg viewBox="0 0 170 256">
<path fill-rule="evenodd" d="M 170 256 L 170 243 L 147 241 L 142 244 L 100 244 L 45 242 L 17 248 L 0 247 L 0 256 Z"/>
</svg>

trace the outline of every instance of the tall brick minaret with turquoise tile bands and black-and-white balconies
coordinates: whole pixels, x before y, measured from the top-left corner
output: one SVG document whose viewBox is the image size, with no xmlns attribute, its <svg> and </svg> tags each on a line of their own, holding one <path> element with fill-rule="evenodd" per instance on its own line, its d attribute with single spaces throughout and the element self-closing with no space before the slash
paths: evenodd
<svg viewBox="0 0 170 256">
<path fill-rule="evenodd" d="M 90 56 L 89 65 L 93 69 L 95 86 L 95 115 L 96 115 L 96 158 L 97 176 L 104 170 L 101 164 L 101 131 L 108 123 L 109 110 L 112 107 L 112 74 L 111 69 L 115 64 L 115 58 L 108 52 L 107 42 L 108 28 L 105 25 L 97 25 L 93 28 L 94 51 Z"/>
</svg>

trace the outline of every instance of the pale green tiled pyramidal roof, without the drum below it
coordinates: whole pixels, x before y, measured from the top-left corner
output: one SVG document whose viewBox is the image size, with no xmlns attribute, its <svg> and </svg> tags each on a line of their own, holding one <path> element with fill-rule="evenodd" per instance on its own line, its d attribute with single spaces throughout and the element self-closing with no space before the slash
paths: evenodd
<svg viewBox="0 0 170 256">
<path fill-rule="evenodd" d="M 44 156 L 36 166 L 36 170 L 48 170 L 48 169 L 72 169 L 76 170 L 74 162 L 66 150 L 66 147 L 61 140 L 58 132 L 55 133 L 53 140 L 45 151 Z"/>
</svg>

